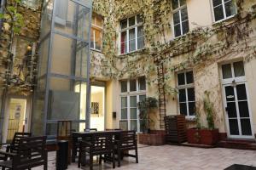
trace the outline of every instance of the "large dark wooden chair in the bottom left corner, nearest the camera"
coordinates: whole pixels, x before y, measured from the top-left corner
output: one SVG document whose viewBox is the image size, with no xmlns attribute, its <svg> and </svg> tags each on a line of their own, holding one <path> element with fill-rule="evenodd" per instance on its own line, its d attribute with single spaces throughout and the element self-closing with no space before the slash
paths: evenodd
<svg viewBox="0 0 256 170">
<path fill-rule="evenodd" d="M 0 155 L 11 157 L 9 161 L 0 161 L 0 167 L 3 167 L 3 169 L 24 170 L 43 165 L 44 170 L 47 170 L 45 143 L 45 136 L 20 139 L 19 144 L 16 146 L 17 153 L 0 151 Z"/>
</svg>

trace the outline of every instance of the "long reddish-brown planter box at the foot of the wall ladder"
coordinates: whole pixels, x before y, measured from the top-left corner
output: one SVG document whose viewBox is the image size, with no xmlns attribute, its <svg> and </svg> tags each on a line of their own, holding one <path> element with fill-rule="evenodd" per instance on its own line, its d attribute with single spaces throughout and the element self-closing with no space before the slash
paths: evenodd
<svg viewBox="0 0 256 170">
<path fill-rule="evenodd" d="M 161 133 L 138 133 L 139 144 L 163 145 L 165 144 L 165 134 Z"/>
</svg>

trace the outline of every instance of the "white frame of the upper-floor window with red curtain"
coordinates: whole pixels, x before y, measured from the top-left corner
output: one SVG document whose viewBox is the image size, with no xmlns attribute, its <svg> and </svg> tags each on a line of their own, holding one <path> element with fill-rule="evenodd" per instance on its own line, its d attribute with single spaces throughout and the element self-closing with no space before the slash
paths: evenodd
<svg viewBox="0 0 256 170">
<path fill-rule="evenodd" d="M 138 43 L 138 39 L 139 38 L 142 38 L 142 37 L 137 37 L 137 28 L 138 27 L 140 27 L 140 26 L 143 26 L 143 22 L 141 22 L 141 23 L 138 23 L 138 21 L 137 21 L 137 16 L 138 16 L 139 14 L 137 14 L 137 15 L 135 15 L 135 16 L 131 16 L 131 17 L 128 17 L 128 18 L 126 18 L 125 20 L 127 21 L 127 27 L 126 28 L 124 28 L 124 29 L 122 29 L 121 28 L 121 21 L 122 20 L 120 20 L 120 31 L 119 31 L 119 37 L 120 37 L 120 40 L 119 40 L 119 54 L 129 54 L 129 53 L 132 53 L 132 52 L 135 52 L 135 51 L 137 51 L 137 50 L 141 50 L 141 49 L 143 49 L 144 47 L 145 47 L 145 43 L 143 44 L 144 45 L 144 47 L 143 48 L 140 48 L 140 49 L 138 49 L 138 46 L 137 46 L 137 43 Z M 132 17 L 135 17 L 135 25 L 134 26 L 129 26 L 129 19 L 130 18 L 132 18 Z M 130 47 L 129 47 L 129 42 L 130 42 L 130 38 L 129 38 L 129 31 L 131 30 L 131 29 L 134 29 L 135 28 L 135 50 L 133 50 L 133 51 L 130 51 Z M 122 32 L 125 32 L 126 31 L 126 52 L 125 53 L 122 53 L 122 46 L 121 46 L 121 44 L 122 44 L 122 42 L 121 42 L 121 37 L 122 37 Z M 144 32 L 143 32 L 143 37 L 145 37 L 145 35 L 144 35 Z M 145 41 L 145 40 L 144 40 Z"/>
</svg>

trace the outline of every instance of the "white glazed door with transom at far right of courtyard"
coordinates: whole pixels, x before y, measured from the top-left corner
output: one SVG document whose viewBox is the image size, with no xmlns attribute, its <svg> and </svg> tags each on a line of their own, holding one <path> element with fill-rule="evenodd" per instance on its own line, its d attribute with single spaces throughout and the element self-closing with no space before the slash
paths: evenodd
<svg viewBox="0 0 256 170">
<path fill-rule="evenodd" d="M 225 118 L 230 138 L 253 139 L 243 62 L 222 65 Z"/>
</svg>

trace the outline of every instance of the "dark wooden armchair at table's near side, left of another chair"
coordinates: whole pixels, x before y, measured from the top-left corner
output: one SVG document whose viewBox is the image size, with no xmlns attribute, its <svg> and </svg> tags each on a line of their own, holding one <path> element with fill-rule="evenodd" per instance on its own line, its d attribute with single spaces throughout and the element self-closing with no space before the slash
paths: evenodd
<svg viewBox="0 0 256 170">
<path fill-rule="evenodd" d="M 93 169 L 93 156 L 100 156 L 99 163 L 102 164 L 103 155 L 112 156 L 113 168 L 115 168 L 113 133 L 94 133 L 90 142 L 82 140 L 79 147 L 78 167 L 81 166 L 82 157 L 86 160 L 86 153 L 88 153 L 90 156 L 90 170 Z"/>
</svg>

